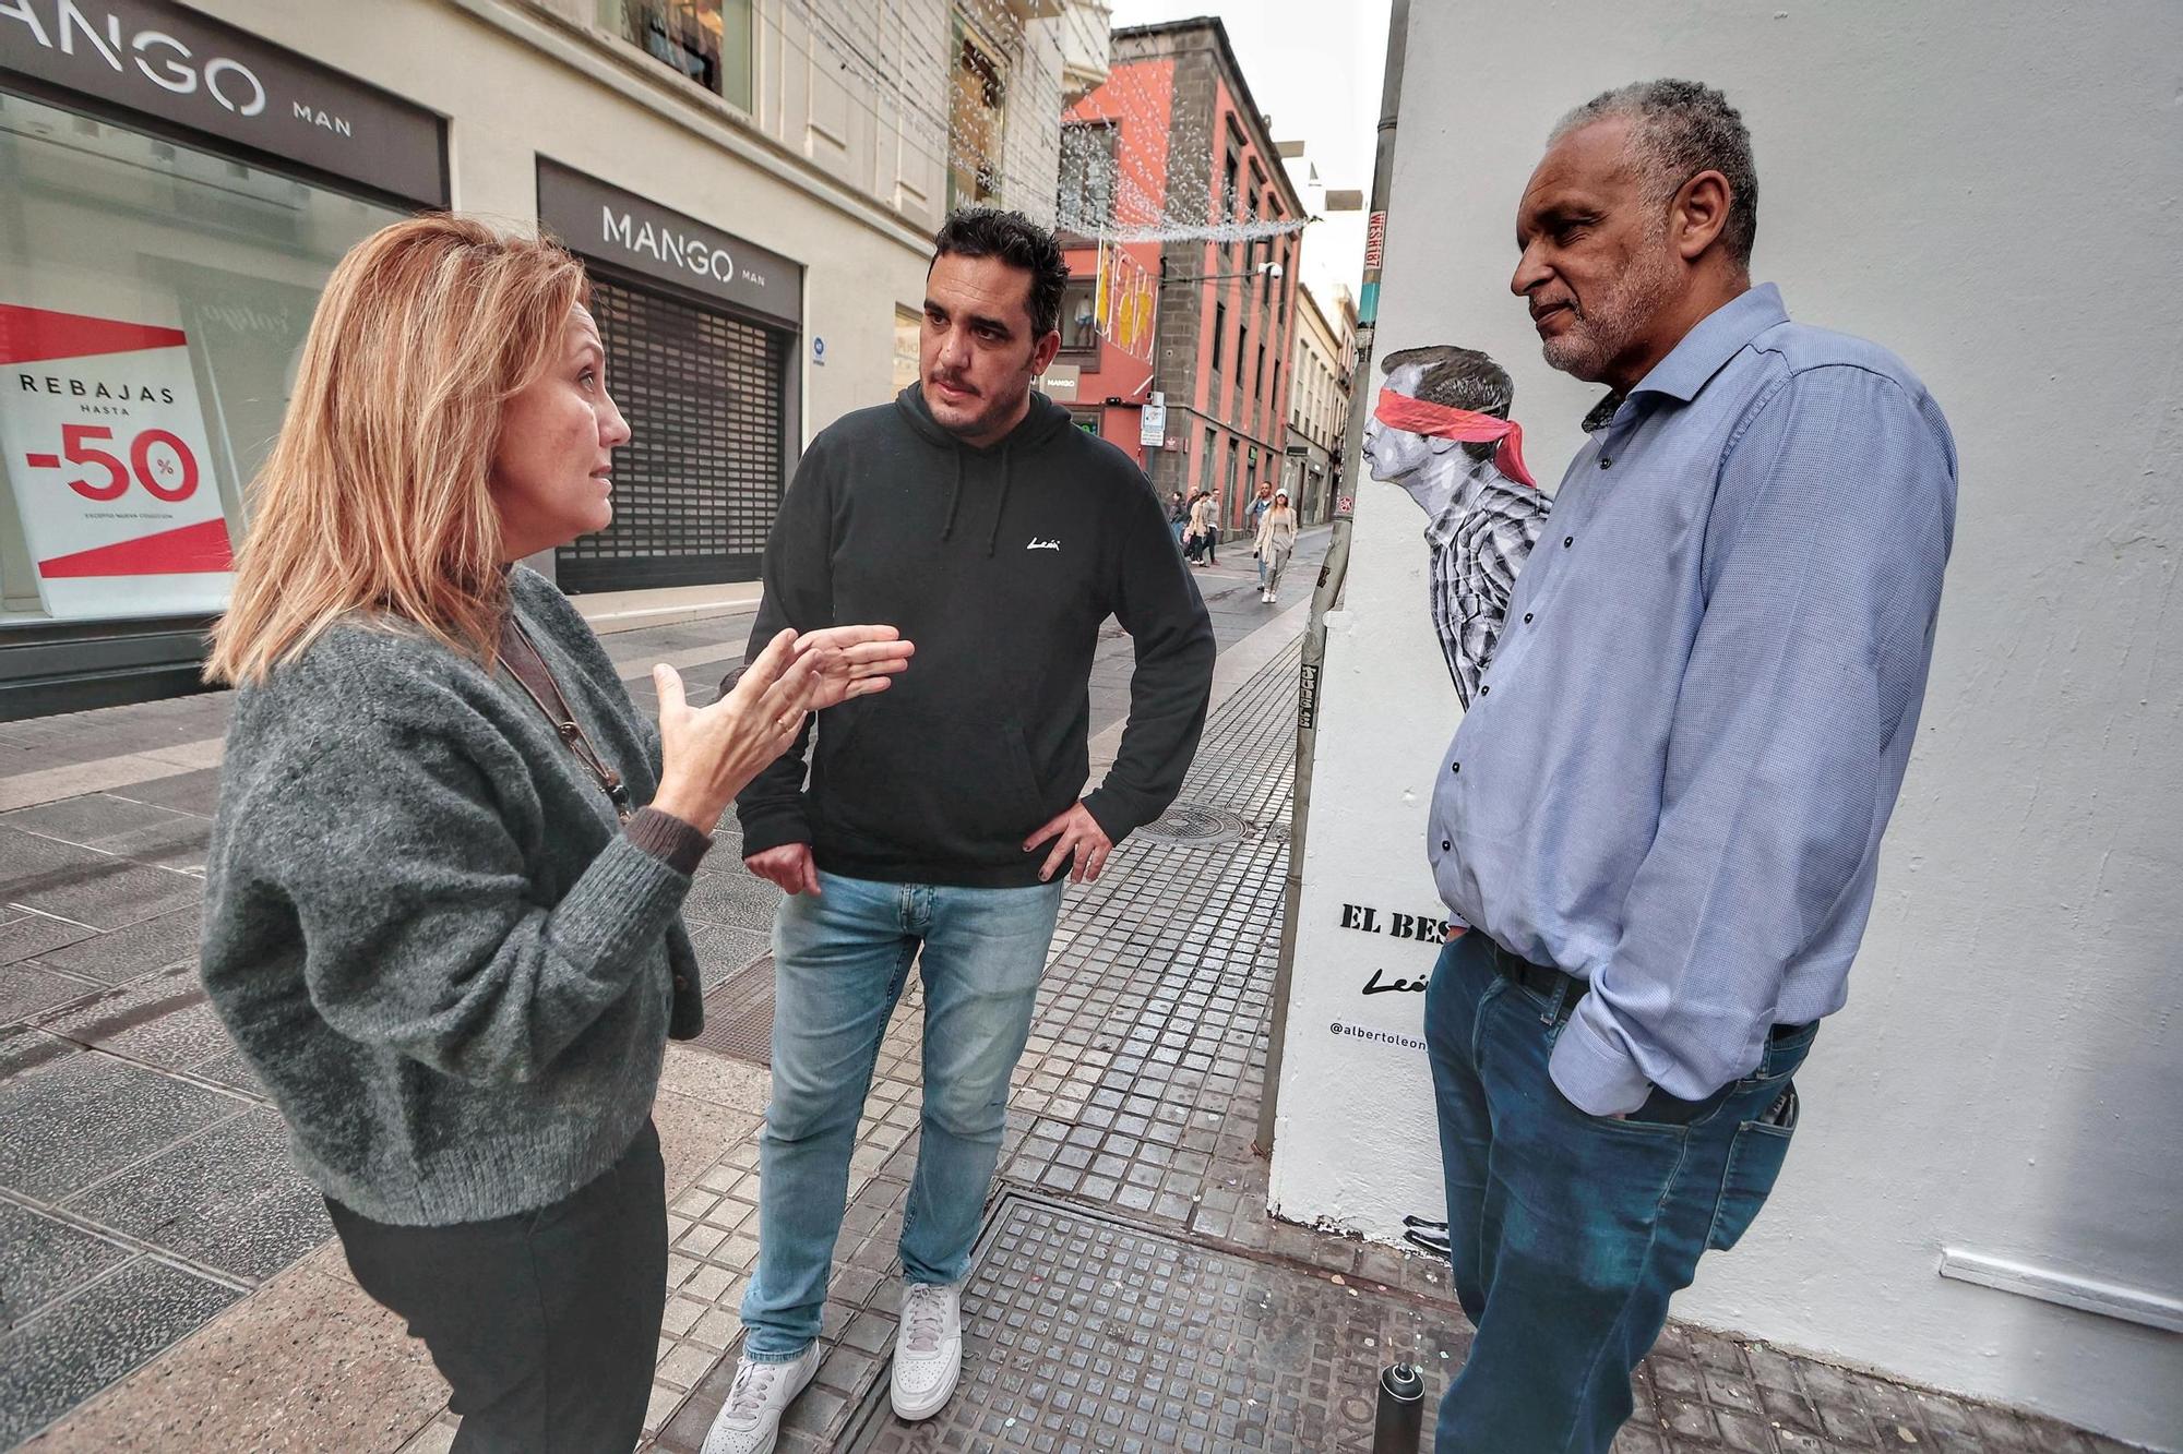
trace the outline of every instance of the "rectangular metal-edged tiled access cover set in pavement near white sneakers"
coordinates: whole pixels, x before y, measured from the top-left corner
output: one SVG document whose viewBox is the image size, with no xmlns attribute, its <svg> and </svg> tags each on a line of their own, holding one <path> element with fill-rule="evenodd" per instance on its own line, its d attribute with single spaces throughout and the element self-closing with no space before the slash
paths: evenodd
<svg viewBox="0 0 2183 1454">
<path fill-rule="evenodd" d="M 840 1447 L 1362 1454 L 1391 1338 L 1417 1336 L 1408 1308 L 1329 1275 L 1011 1192 L 963 1292 L 954 1399 L 904 1423 L 880 1378 Z M 1428 1340 L 1430 1364 L 1443 1347 L 1460 1362 Z"/>
</svg>

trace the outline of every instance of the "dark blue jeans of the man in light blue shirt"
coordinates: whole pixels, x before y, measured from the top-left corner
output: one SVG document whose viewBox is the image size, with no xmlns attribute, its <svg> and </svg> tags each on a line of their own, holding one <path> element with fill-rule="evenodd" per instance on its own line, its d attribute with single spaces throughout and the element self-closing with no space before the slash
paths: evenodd
<svg viewBox="0 0 2183 1454">
<path fill-rule="evenodd" d="M 1735 1244 L 1781 1172 L 1797 1120 L 1781 1103 L 1816 1026 L 1777 1030 L 1751 1076 L 1705 1100 L 1655 1089 L 1605 1120 L 1546 1070 L 1567 1006 L 1502 976 L 1495 954 L 1463 934 L 1425 991 L 1447 1242 L 1478 1330 L 1434 1452 L 1607 1454 L 1668 1297 L 1698 1253 Z"/>
</svg>

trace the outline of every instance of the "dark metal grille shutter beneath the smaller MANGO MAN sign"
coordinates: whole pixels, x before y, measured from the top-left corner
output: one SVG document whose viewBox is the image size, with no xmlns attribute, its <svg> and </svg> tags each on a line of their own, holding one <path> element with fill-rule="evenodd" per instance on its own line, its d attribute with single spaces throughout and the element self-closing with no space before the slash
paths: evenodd
<svg viewBox="0 0 2183 1454">
<path fill-rule="evenodd" d="M 561 589 L 755 581 L 782 502 L 786 334 L 596 275 L 592 314 L 633 437 L 613 524 L 554 555 Z"/>
</svg>

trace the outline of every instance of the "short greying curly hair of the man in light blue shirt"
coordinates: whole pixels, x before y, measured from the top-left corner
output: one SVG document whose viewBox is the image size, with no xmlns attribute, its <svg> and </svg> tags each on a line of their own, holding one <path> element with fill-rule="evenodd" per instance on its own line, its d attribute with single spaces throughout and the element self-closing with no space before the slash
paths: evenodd
<svg viewBox="0 0 2183 1454">
<path fill-rule="evenodd" d="M 1703 81 L 1633 81 L 1600 92 L 1554 124 L 1548 146 L 1598 120 L 1629 118 L 1631 153 L 1648 201 L 1666 203 L 1698 172 L 1729 179 L 1729 216 L 1720 247 L 1749 271 L 1759 236 L 1759 168 L 1751 159 L 1751 129 L 1729 98 Z"/>
</svg>

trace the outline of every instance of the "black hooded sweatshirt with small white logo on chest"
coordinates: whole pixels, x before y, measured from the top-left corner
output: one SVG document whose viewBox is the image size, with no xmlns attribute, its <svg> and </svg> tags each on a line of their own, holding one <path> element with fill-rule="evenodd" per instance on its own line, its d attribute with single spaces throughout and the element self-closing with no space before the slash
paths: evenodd
<svg viewBox="0 0 2183 1454">
<path fill-rule="evenodd" d="M 974 448 L 910 384 L 812 441 L 766 541 L 749 655 L 782 627 L 888 624 L 917 644 L 886 692 L 819 714 L 742 790 L 742 851 L 810 843 L 827 873 L 1028 886 L 1024 851 L 1089 777 L 1100 624 L 1135 637 L 1129 727 L 1085 808 L 1116 843 L 1183 786 L 1214 631 L 1144 472 L 1033 393 Z"/>
</svg>

